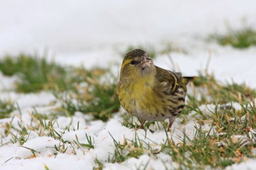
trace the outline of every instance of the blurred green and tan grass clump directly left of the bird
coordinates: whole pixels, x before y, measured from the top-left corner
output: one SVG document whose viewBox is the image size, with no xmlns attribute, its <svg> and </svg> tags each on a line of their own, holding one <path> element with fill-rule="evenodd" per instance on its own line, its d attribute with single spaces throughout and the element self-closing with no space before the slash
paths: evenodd
<svg viewBox="0 0 256 170">
<path fill-rule="evenodd" d="M 80 92 L 60 94 L 54 92 L 56 98 L 61 101 L 59 111 L 66 115 L 74 115 L 76 111 L 91 113 L 95 119 L 107 121 L 112 113 L 120 109 L 120 103 L 116 95 L 116 84 L 99 81 L 88 83 Z"/>
</svg>

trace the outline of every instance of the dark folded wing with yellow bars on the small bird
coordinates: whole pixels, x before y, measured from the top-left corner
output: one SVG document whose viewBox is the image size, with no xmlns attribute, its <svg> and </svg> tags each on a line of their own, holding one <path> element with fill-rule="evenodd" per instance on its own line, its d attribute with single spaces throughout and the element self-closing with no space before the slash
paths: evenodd
<svg viewBox="0 0 256 170">
<path fill-rule="evenodd" d="M 156 66 L 156 79 L 157 81 L 167 82 L 170 87 L 170 92 L 175 92 L 182 85 L 181 73 L 173 73 L 172 71 L 162 69 Z"/>
</svg>

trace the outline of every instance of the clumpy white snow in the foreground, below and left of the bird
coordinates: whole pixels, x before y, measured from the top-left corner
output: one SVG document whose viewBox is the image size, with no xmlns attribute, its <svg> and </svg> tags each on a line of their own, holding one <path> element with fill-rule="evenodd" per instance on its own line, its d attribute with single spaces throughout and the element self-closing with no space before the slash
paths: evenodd
<svg viewBox="0 0 256 170">
<path fill-rule="evenodd" d="M 79 121 L 83 120 L 81 119 L 81 115 L 77 115 L 80 117 Z M 95 159 L 100 162 L 107 162 L 109 157 L 114 155 L 114 139 L 117 143 L 122 144 L 126 141 L 129 145 L 132 145 L 132 141 L 134 142 L 134 139 L 138 136 L 140 140 L 145 141 L 143 145 L 145 145 L 146 148 L 147 145 L 149 145 L 156 151 L 161 150 L 161 145 L 163 145 L 167 139 L 166 133 L 163 129 L 152 133 L 149 130 L 144 131 L 142 129 L 138 129 L 138 131 L 134 131 L 134 129 L 124 127 L 120 117 L 118 116 L 109 120 L 107 123 L 100 120 L 84 124 L 80 124 L 79 122 L 79 129 L 77 130 L 76 120 L 78 120 L 78 117 L 76 117 L 76 115 L 72 118 L 58 117 L 56 120 L 58 124 L 54 124 L 54 129 L 59 134 L 63 134 L 61 136 L 63 141 L 69 141 L 70 143 L 73 143 L 73 145 L 74 141 L 88 144 L 88 139 L 86 139 L 87 135 L 92 138 L 92 145 L 94 146 L 93 149 L 73 148 L 70 144 L 66 143 L 65 153 L 59 153 L 56 158 L 54 158 L 54 153 L 56 152 L 55 147 L 58 148 L 58 146 L 60 146 L 60 148 L 62 148 L 64 145 L 63 142 L 49 136 L 40 136 L 40 134 L 47 134 L 47 130 L 40 131 L 40 129 L 38 129 L 38 131 L 34 130 L 28 132 L 28 135 L 25 136 L 28 141 L 26 141 L 22 146 L 20 146 L 19 143 L 8 143 L 8 141 L 12 139 L 11 136 L 4 138 L 2 142 L 7 144 L 0 148 L 1 168 L 13 169 L 19 167 L 19 169 L 26 169 L 30 164 L 33 169 L 44 169 L 44 165 L 47 165 L 49 168 L 52 167 L 53 169 L 55 169 L 56 166 L 58 166 L 58 168 L 68 169 L 70 166 L 66 164 L 66 161 L 71 161 L 72 164 L 76 164 L 76 169 L 81 169 L 82 167 L 90 169 L 92 165 L 94 165 Z M 29 118 L 28 113 L 22 113 L 20 118 L 13 118 L 13 126 L 16 126 L 19 129 L 19 120 L 22 120 L 22 122 L 24 122 L 24 126 L 29 127 L 29 124 L 31 124 L 30 119 L 31 118 Z M 184 131 L 189 138 L 193 138 L 193 136 L 195 136 L 195 123 L 193 121 L 184 125 L 184 127 L 180 127 L 179 122 L 180 120 L 178 119 L 177 122 L 173 124 L 173 133 L 168 134 L 168 138 L 173 138 L 175 143 L 181 142 Z M 69 131 L 66 130 L 67 126 L 70 127 Z M 30 128 L 33 129 L 33 127 Z M 205 126 L 205 128 L 209 131 L 209 127 Z M 7 150 L 8 153 L 6 154 Z M 31 151 L 34 151 L 34 153 Z M 76 155 L 74 155 L 74 152 L 76 152 Z M 6 160 L 8 161 L 6 162 Z M 165 155 L 164 153 L 159 155 L 157 154 L 155 158 L 145 154 L 141 155 L 139 159 L 130 158 L 125 160 L 122 164 L 106 163 L 105 166 L 106 169 L 115 169 L 118 167 L 124 167 L 124 169 L 127 169 L 127 166 L 131 166 L 133 169 L 136 169 L 136 167 L 144 167 L 147 164 L 148 169 L 155 169 L 156 167 L 161 167 L 163 169 L 164 167 L 168 167 L 168 169 L 174 169 L 177 165 L 171 160 L 172 158 L 170 155 Z M 63 162 L 65 163 L 63 164 Z M 88 165 L 86 162 L 89 162 Z"/>
</svg>

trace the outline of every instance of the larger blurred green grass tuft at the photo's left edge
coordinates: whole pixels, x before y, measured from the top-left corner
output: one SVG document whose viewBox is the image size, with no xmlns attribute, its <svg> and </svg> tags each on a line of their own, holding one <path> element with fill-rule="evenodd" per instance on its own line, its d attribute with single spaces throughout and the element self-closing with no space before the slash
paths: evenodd
<svg viewBox="0 0 256 170">
<path fill-rule="evenodd" d="M 6 76 L 17 74 L 17 92 L 38 92 L 50 89 L 51 83 L 64 83 L 66 71 L 55 62 L 47 62 L 45 58 L 20 54 L 17 57 L 6 56 L 0 60 L 0 71 Z"/>
</svg>

